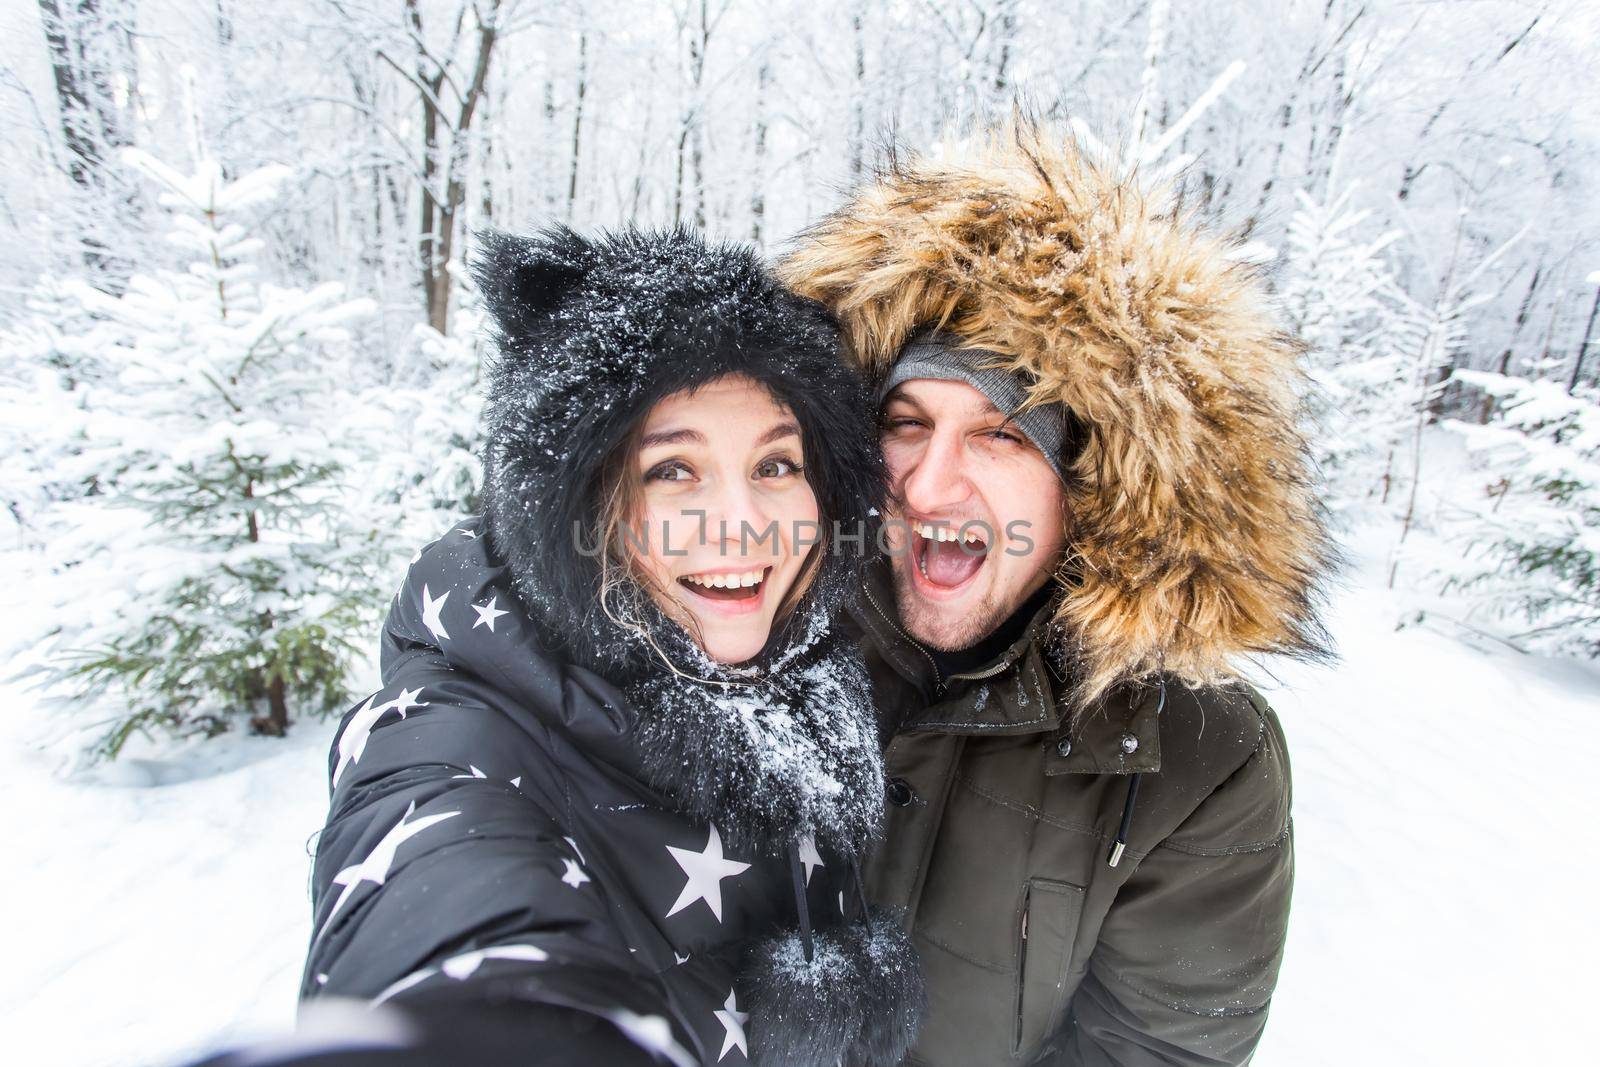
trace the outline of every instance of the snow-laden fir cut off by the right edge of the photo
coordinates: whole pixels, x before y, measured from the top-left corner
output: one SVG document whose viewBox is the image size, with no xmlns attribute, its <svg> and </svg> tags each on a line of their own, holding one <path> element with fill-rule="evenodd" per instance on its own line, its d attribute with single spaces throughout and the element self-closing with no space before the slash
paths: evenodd
<svg viewBox="0 0 1600 1067">
<path fill-rule="evenodd" d="M 1458 501 L 1461 558 L 1445 589 L 1517 629 L 1523 648 L 1600 656 L 1600 392 L 1565 382 L 1458 370 L 1453 381 L 1494 402 L 1486 426 L 1446 419 L 1482 472 Z"/>
</svg>

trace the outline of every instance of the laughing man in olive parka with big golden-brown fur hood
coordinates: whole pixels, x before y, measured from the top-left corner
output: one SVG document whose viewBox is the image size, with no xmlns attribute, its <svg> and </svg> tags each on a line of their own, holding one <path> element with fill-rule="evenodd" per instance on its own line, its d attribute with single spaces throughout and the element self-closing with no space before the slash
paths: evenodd
<svg viewBox="0 0 1600 1067">
<path fill-rule="evenodd" d="M 1293 881 L 1248 653 L 1322 656 L 1296 346 L 1227 250 L 1070 149 L 910 160 L 786 280 L 878 384 L 861 640 L 930 1011 L 907 1062 L 1243 1064 Z"/>
</svg>

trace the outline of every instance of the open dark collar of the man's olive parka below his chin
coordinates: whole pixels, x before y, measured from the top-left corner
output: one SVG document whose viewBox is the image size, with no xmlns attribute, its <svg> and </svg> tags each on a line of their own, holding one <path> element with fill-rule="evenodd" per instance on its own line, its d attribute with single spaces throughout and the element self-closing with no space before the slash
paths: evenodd
<svg viewBox="0 0 1600 1067">
<path fill-rule="evenodd" d="M 982 667 L 941 678 L 933 657 L 901 627 L 893 582 L 888 560 L 874 561 L 856 614 L 878 654 L 926 701 L 906 710 L 899 733 L 1050 734 L 1046 774 L 1160 769 L 1160 686 L 1115 686 L 1074 715 L 1061 657 L 1050 648 L 1054 603 Z"/>
</svg>

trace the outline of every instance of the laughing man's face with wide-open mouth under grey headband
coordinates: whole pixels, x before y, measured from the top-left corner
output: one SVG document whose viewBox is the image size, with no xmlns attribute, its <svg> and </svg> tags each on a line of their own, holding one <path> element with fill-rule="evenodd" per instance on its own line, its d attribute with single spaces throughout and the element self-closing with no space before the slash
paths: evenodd
<svg viewBox="0 0 1600 1067">
<path fill-rule="evenodd" d="M 970 648 L 1061 561 L 1061 478 L 966 382 L 894 387 L 883 402 L 883 458 L 890 518 L 901 520 L 886 526 L 901 624 L 930 648 Z"/>
</svg>

